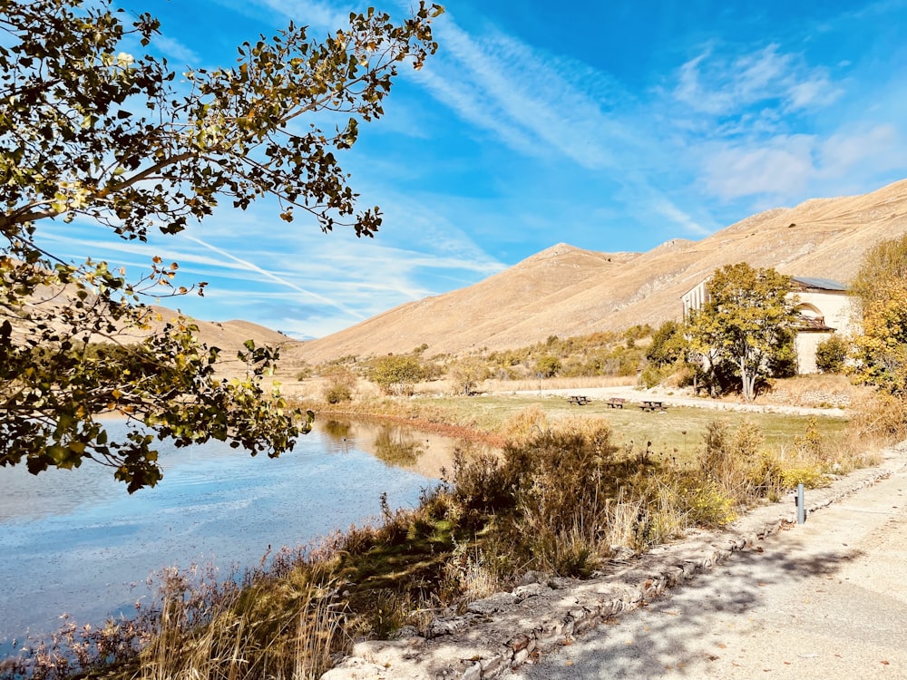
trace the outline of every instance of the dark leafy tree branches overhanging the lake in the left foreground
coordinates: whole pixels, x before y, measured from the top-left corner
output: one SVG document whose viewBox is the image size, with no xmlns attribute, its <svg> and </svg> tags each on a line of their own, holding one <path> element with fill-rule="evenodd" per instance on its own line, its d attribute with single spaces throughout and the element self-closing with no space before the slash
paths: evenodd
<svg viewBox="0 0 907 680">
<path fill-rule="evenodd" d="M 263 387 L 276 351 L 249 343 L 245 377 L 216 378 L 219 349 L 190 322 L 154 330 L 147 296 L 189 292 L 173 287 L 176 263 L 155 258 L 135 280 L 64 262 L 41 245 L 41 225 L 145 240 L 274 196 L 285 221 L 372 236 L 380 213 L 356 211 L 336 152 L 382 115 L 397 68 L 434 53 L 442 11 L 422 3 L 395 24 L 369 9 L 323 41 L 289 24 L 178 85 L 165 60 L 131 53 L 158 33 L 151 15 L 126 21 L 111 0 L 0 0 L 0 465 L 92 460 L 135 491 L 161 478 L 155 438 L 292 449 L 310 414 Z M 94 343 L 120 350 L 90 354 Z M 122 441 L 95 418 L 103 411 L 134 425 Z"/>
</svg>

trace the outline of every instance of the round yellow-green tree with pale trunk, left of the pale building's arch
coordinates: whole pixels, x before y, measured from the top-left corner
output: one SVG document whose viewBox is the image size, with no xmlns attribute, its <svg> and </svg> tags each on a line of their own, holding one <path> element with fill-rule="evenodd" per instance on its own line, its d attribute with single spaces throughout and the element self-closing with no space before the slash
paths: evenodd
<svg viewBox="0 0 907 680">
<path fill-rule="evenodd" d="M 791 344 L 796 321 L 791 278 L 746 262 L 716 269 L 706 283 L 707 301 L 688 318 L 691 348 L 708 357 L 709 369 L 734 367 L 746 399 L 770 374 L 772 359 Z"/>
</svg>

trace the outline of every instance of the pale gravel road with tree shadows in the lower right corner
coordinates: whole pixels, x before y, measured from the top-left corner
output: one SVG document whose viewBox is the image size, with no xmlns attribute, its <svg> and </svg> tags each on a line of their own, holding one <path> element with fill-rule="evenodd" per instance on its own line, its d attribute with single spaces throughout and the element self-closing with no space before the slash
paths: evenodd
<svg viewBox="0 0 907 680">
<path fill-rule="evenodd" d="M 508 676 L 907 678 L 907 471 Z"/>
</svg>

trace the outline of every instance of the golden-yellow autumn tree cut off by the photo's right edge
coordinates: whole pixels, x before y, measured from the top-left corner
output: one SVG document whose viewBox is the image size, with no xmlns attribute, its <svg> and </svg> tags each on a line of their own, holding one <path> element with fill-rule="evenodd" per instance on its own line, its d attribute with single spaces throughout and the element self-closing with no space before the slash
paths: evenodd
<svg viewBox="0 0 907 680">
<path fill-rule="evenodd" d="M 864 384 L 907 395 L 907 235 L 867 251 L 851 292 L 863 322 L 853 374 Z"/>
</svg>

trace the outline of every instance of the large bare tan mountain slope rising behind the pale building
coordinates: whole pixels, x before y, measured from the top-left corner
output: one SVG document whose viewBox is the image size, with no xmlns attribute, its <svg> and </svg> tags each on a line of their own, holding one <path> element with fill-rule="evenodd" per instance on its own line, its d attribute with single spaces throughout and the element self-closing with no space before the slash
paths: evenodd
<svg viewBox="0 0 907 680">
<path fill-rule="evenodd" d="M 907 180 L 863 196 L 812 199 L 743 219 L 699 241 L 648 253 L 597 253 L 559 244 L 474 286 L 391 309 L 285 355 L 430 355 L 529 345 L 677 319 L 680 296 L 717 267 L 746 261 L 785 274 L 847 281 L 863 252 L 907 232 Z"/>
</svg>

